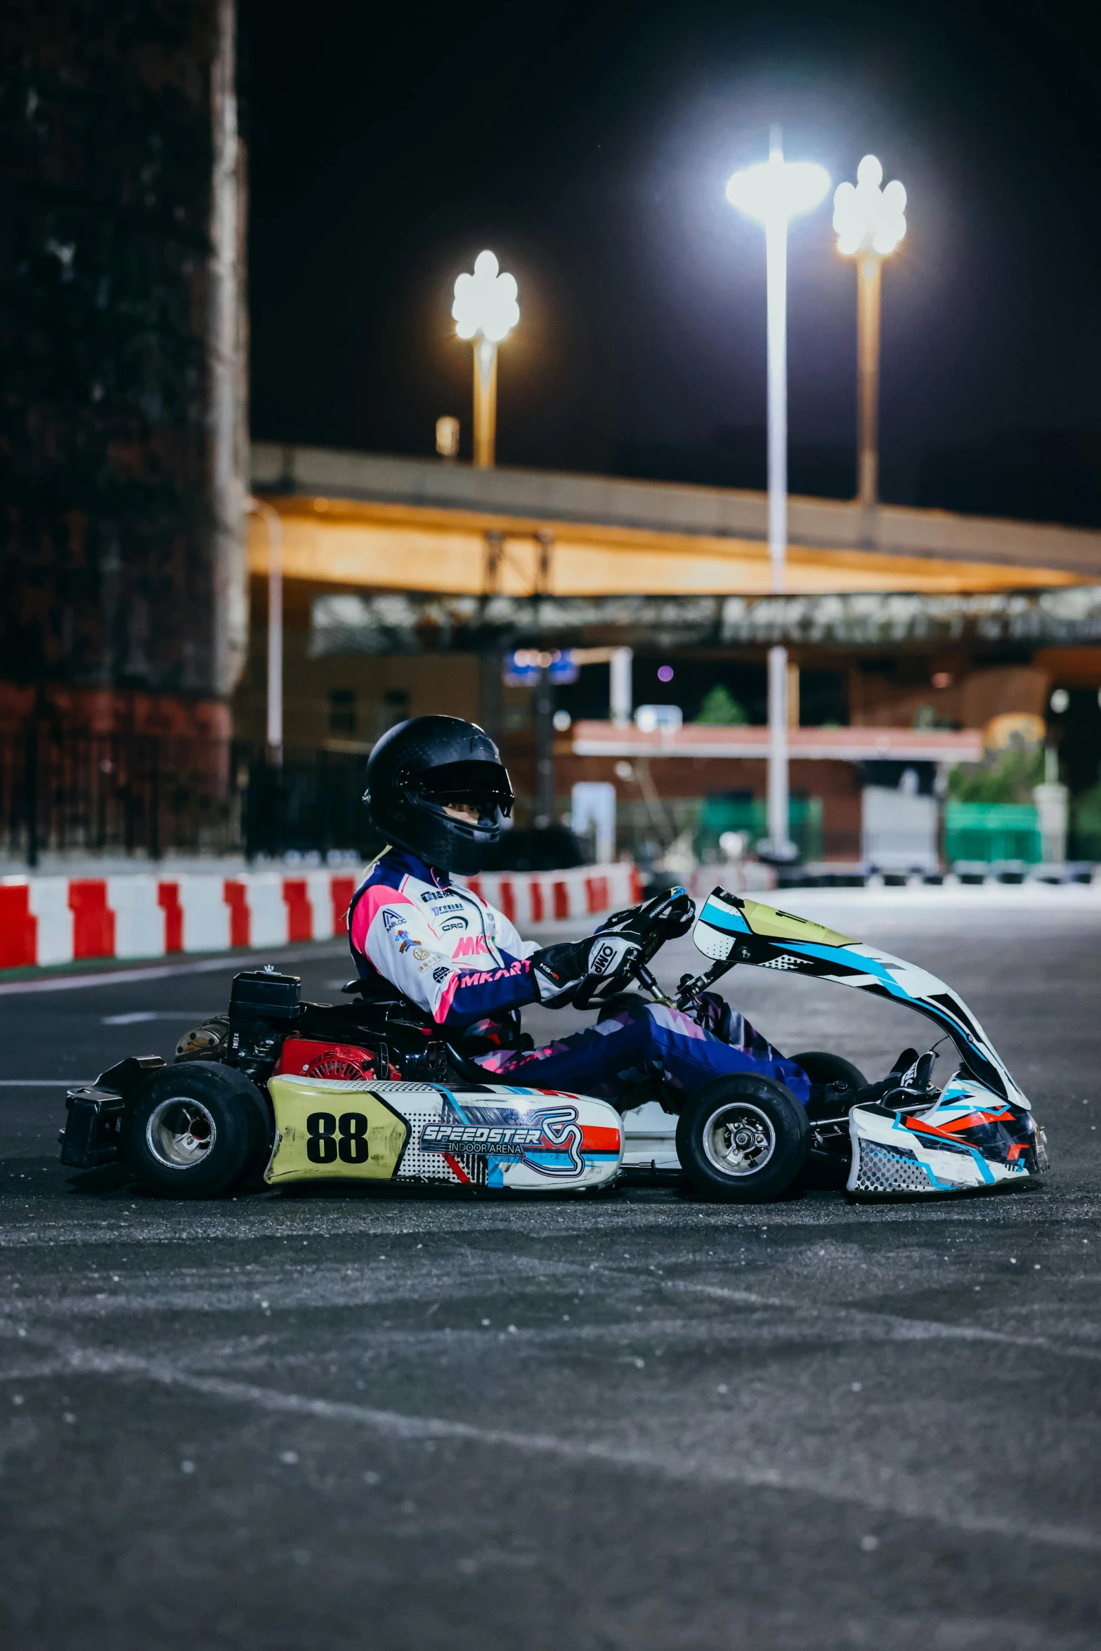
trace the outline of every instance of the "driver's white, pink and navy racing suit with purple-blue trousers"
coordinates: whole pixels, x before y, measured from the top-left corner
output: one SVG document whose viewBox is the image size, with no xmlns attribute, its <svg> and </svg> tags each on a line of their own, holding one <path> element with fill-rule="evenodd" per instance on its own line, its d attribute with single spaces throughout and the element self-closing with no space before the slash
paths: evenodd
<svg viewBox="0 0 1101 1651">
<path fill-rule="evenodd" d="M 386 849 L 366 868 L 352 896 L 348 939 L 361 977 L 385 976 L 456 1037 L 477 1022 L 517 1022 L 518 1010 L 538 1001 L 538 943 L 522 939 L 503 913 L 408 849 Z M 692 1093 L 736 1071 L 776 1078 L 804 1105 L 810 1095 L 802 1067 L 710 994 L 700 1019 L 639 1002 L 541 1048 L 494 1048 L 474 1058 L 489 1078 L 612 1101 L 645 1078 Z"/>
</svg>

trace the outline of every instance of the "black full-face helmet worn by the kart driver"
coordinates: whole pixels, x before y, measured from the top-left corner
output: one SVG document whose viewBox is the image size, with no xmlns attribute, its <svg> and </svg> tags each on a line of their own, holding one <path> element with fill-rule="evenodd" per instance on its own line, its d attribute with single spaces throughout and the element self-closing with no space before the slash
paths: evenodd
<svg viewBox="0 0 1101 1651">
<path fill-rule="evenodd" d="M 500 751 L 482 728 L 461 717 L 411 717 L 368 756 L 363 801 L 391 842 L 470 877 L 500 842 L 513 796 Z M 447 802 L 474 804 L 477 821 L 454 819 Z"/>
</svg>

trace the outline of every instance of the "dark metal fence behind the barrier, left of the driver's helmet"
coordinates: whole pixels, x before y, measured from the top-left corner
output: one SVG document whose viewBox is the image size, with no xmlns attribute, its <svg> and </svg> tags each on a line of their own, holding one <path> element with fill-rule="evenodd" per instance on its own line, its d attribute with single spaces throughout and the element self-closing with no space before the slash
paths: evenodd
<svg viewBox="0 0 1101 1651">
<path fill-rule="evenodd" d="M 281 855 L 376 847 L 363 758 L 144 735 L 0 735 L 0 859 Z"/>
</svg>

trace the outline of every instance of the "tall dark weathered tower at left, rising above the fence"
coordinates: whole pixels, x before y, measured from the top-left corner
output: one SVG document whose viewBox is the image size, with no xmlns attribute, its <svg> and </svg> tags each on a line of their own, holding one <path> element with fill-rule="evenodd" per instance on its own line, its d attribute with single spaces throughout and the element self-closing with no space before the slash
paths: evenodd
<svg viewBox="0 0 1101 1651">
<path fill-rule="evenodd" d="M 248 647 L 233 0 L 10 5 L 0 733 L 228 736 Z"/>
</svg>

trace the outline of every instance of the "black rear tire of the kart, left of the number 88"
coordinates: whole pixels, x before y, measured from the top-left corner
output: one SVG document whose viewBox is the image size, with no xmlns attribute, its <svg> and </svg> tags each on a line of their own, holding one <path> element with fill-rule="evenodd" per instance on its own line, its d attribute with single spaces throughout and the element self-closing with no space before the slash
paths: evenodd
<svg viewBox="0 0 1101 1651">
<path fill-rule="evenodd" d="M 243 1071 L 188 1060 L 154 1073 L 127 1106 L 122 1156 L 162 1199 L 216 1199 L 264 1167 L 269 1133 L 267 1103 Z"/>
</svg>

